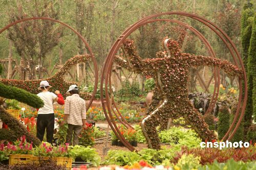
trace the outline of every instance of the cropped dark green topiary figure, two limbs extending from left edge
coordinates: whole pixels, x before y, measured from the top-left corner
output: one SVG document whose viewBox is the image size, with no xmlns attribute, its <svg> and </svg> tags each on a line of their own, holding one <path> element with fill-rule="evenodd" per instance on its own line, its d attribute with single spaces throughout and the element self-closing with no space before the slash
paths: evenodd
<svg viewBox="0 0 256 170">
<path fill-rule="evenodd" d="M 37 95 L 23 89 L 6 86 L 3 83 L 0 83 L 0 96 L 7 99 L 15 99 L 35 108 L 44 106 L 44 102 Z M 29 133 L 23 124 L 19 123 L 15 117 L 2 107 L 0 107 L 0 119 L 8 126 L 7 129 L 0 129 L 0 140 L 15 141 L 25 135 L 28 142 L 33 142 L 34 145 L 40 144 L 39 139 Z"/>
</svg>

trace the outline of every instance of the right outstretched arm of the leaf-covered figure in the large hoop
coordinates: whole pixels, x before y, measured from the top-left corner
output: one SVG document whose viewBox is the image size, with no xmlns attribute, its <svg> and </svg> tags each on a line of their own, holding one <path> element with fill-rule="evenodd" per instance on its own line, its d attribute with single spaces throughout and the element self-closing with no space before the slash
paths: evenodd
<svg viewBox="0 0 256 170">
<path fill-rule="evenodd" d="M 213 57 L 205 57 L 205 56 L 197 56 L 197 55 L 189 55 L 185 54 L 182 56 L 183 60 L 186 60 L 188 65 L 190 66 L 217 66 L 220 69 L 223 69 L 226 74 L 231 76 L 242 77 L 243 71 L 238 68 L 236 65 L 231 64 L 227 60 L 221 60 Z"/>
</svg>

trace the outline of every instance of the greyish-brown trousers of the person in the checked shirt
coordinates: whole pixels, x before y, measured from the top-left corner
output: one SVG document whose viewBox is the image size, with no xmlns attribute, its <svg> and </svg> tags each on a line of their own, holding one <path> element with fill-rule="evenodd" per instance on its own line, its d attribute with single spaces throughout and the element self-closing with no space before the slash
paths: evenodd
<svg viewBox="0 0 256 170">
<path fill-rule="evenodd" d="M 73 131 L 74 131 L 74 135 L 73 135 L 73 145 L 78 145 L 79 141 L 78 141 L 78 135 L 80 134 L 80 132 L 82 131 L 82 125 L 72 125 L 72 124 L 68 124 L 69 129 L 68 129 L 68 135 L 66 137 L 66 143 L 69 143 L 70 145 L 72 145 L 72 135 L 73 135 Z"/>
</svg>

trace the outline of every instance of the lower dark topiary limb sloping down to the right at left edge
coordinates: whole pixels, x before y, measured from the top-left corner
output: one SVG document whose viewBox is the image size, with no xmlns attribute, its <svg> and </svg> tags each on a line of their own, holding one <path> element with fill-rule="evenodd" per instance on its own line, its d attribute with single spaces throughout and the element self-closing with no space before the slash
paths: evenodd
<svg viewBox="0 0 256 170">
<path fill-rule="evenodd" d="M 10 128 L 10 130 L 0 129 L 0 140 L 15 141 L 25 135 L 27 141 L 33 142 L 33 145 L 39 145 L 41 143 L 38 138 L 27 131 L 23 124 L 19 123 L 15 117 L 3 108 L 0 108 L 0 119 Z"/>
</svg>

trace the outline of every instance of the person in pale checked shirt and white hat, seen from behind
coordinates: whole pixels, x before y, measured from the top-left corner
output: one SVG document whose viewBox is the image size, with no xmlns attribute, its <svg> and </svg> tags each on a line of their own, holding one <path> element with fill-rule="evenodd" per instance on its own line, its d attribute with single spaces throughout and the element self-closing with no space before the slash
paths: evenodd
<svg viewBox="0 0 256 170">
<path fill-rule="evenodd" d="M 68 123 L 68 135 L 66 142 L 72 144 L 73 135 L 73 145 L 78 144 L 78 135 L 80 134 L 82 128 L 87 128 L 86 126 L 86 101 L 79 97 L 79 90 L 77 85 L 71 85 L 66 94 L 70 94 L 67 97 L 64 108 L 64 121 L 61 123 L 63 125 L 65 122 Z"/>
</svg>

